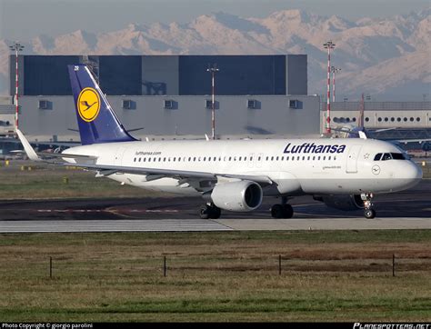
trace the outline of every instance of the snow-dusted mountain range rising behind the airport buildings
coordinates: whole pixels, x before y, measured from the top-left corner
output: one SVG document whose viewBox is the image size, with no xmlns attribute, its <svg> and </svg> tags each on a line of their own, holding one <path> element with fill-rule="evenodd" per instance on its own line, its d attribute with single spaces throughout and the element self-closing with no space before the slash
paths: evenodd
<svg viewBox="0 0 431 329">
<path fill-rule="evenodd" d="M 327 52 L 336 95 L 349 100 L 362 93 L 376 100 L 429 101 L 431 85 L 431 7 L 408 15 L 355 22 L 303 10 L 283 10 L 266 18 L 226 13 L 200 15 L 187 24 L 138 25 L 94 34 L 77 30 L 39 35 L 25 55 L 276 55 L 308 56 L 308 94 L 326 94 Z M 13 40 L 0 39 L 0 94 L 8 91 L 8 56 Z M 414 97 L 414 99 L 411 99 Z M 409 99 L 407 99 L 409 98 Z M 342 99 L 337 99 L 342 100 Z"/>
</svg>

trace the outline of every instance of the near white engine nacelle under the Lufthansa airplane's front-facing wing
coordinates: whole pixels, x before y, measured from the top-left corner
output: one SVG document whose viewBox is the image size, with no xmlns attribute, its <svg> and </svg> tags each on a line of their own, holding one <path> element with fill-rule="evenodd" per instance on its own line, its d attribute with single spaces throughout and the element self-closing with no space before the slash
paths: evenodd
<svg viewBox="0 0 431 329">
<path fill-rule="evenodd" d="M 219 183 L 213 189 L 211 200 L 221 209 L 249 212 L 262 204 L 262 187 L 251 181 Z"/>
</svg>

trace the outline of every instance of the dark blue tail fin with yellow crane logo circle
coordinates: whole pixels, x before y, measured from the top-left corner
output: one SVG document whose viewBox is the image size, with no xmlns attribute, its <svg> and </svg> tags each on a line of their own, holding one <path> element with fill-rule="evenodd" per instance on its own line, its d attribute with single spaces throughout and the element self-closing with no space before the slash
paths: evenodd
<svg viewBox="0 0 431 329">
<path fill-rule="evenodd" d="M 81 144 L 131 142 L 86 65 L 67 65 L 74 94 Z"/>
</svg>

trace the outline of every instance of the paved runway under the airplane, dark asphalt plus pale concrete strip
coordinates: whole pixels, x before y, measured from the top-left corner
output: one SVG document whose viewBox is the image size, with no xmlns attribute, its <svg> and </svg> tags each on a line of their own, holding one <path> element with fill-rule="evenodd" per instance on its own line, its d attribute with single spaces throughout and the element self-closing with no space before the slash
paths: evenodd
<svg viewBox="0 0 431 329">
<path fill-rule="evenodd" d="M 409 191 L 376 195 L 373 220 L 365 219 L 361 210 L 328 208 L 311 196 L 289 201 L 294 218 L 274 219 L 269 209 L 277 202 L 265 199 L 255 212 L 224 211 L 218 220 L 201 220 L 199 198 L 2 201 L 0 233 L 431 228 L 431 180 Z"/>
</svg>

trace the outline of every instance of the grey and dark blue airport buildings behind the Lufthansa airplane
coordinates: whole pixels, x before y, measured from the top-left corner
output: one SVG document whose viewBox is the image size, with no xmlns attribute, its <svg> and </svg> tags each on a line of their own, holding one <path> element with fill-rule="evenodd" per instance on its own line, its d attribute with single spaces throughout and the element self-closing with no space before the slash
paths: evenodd
<svg viewBox="0 0 431 329">
<path fill-rule="evenodd" d="M 116 115 L 137 138 L 211 135 L 207 69 L 213 65 L 219 69 L 218 138 L 325 132 L 326 100 L 308 95 L 306 55 L 20 55 L 19 127 L 31 142 L 79 143 L 66 68 L 79 63 L 89 65 Z M 0 135 L 14 131 L 14 95 L 11 55 L 10 96 L 0 99 Z M 355 124 L 360 108 L 360 102 L 332 103 L 331 125 Z M 365 102 L 364 109 L 367 128 L 397 127 L 382 135 L 386 139 L 431 135 L 430 102 Z"/>
</svg>

